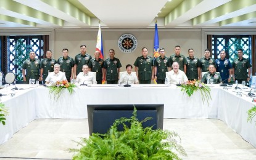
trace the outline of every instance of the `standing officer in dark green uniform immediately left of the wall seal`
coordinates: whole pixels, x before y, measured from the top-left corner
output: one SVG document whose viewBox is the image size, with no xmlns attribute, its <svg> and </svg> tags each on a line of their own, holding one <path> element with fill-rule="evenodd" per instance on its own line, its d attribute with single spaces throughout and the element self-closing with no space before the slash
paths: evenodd
<svg viewBox="0 0 256 160">
<path fill-rule="evenodd" d="M 115 50 L 109 50 L 109 58 L 104 62 L 104 73 L 106 75 L 107 84 L 117 84 L 120 68 L 122 67 L 120 60 L 115 58 Z"/>
</svg>

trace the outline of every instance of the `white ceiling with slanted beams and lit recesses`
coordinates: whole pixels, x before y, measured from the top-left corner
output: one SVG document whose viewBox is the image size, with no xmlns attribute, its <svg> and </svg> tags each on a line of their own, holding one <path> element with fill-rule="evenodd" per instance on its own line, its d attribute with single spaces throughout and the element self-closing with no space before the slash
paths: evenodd
<svg viewBox="0 0 256 160">
<path fill-rule="evenodd" d="M 256 0 L 1 0 L 0 28 L 256 26 Z"/>
</svg>

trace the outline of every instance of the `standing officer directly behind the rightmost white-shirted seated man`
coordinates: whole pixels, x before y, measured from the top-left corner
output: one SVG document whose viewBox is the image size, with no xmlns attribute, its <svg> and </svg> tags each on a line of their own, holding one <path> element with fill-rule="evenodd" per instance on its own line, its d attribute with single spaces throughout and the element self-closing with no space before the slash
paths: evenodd
<svg viewBox="0 0 256 160">
<path fill-rule="evenodd" d="M 186 58 L 184 55 L 181 55 L 181 47 L 175 46 L 175 54 L 171 55 L 168 61 L 168 68 L 169 71 L 171 70 L 171 66 L 173 65 L 173 62 L 178 62 L 180 66 L 180 70 L 184 71 L 186 74 L 187 66 L 186 66 Z"/>
</svg>

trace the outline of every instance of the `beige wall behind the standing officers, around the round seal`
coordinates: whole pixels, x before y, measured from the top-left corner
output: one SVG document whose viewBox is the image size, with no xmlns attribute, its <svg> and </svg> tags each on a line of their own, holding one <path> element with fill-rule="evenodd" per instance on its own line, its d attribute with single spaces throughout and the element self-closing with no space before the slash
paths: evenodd
<svg viewBox="0 0 256 160">
<path fill-rule="evenodd" d="M 102 30 L 104 47 L 104 59 L 109 57 L 109 49 L 115 50 L 115 57 L 120 59 L 125 71 L 125 66 L 130 63 L 133 65 L 137 57 L 141 56 L 142 47 L 147 47 L 149 56 L 153 55 L 154 50 L 154 29 L 148 30 Z M 133 34 L 138 40 L 138 47 L 134 52 L 126 54 L 120 51 L 117 42 L 120 36 L 125 33 Z M 80 45 L 85 44 L 87 53 L 94 57 L 96 49 L 97 30 L 83 29 L 56 29 L 54 35 L 54 58 L 62 56 L 62 49 L 69 50 L 70 57 L 75 57 L 80 52 Z M 202 57 L 202 32 L 200 29 L 192 30 L 159 30 L 159 44 L 164 47 L 167 57 L 174 53 L 176 45 L 181 46 L 181 54 L 188 56 L 188 49 L 193 48 L 196 57 Z"/>
</svg>

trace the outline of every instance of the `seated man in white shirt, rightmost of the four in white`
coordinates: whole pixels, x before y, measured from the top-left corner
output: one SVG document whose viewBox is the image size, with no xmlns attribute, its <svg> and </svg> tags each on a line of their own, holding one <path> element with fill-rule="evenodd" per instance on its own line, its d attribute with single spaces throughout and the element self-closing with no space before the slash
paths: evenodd
<svg viewBox="0 0 256 160">
<path fill-rule="evenodd" d="M 188 82 L 188 78 L 184 71 L 179 70 L 179 63 L 173 62 L 171 71 L 166 74 L 168 84 L 182 84 Z"/>
</svg>

